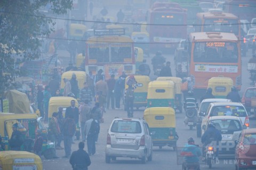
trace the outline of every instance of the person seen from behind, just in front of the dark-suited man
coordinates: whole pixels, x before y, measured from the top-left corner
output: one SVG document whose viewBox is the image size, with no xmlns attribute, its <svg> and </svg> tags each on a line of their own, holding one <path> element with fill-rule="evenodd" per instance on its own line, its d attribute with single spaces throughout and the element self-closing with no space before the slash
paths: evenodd
<svg viewBox="0 0 256 170">
<path fill-rule="evenodd" d="M 69 114 L 63 124 L 63 141 L 65 156 L 63 158 L 69 158 L 71 155 L 72 138 L 76 132 L 76 124 L 73 115 Z"/>
</svg>

